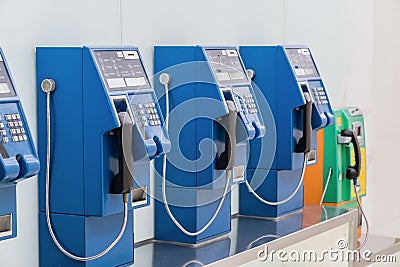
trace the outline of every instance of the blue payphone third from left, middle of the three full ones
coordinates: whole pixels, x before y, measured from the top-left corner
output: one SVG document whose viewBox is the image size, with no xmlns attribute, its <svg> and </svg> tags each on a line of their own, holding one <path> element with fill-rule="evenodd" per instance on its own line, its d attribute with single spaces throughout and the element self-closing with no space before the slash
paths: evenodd
<svg viewBox="0 0 400 267">
<path fill-rule="evenodd" d="M 172 143 L 156 160 L 155 238 L 199 244 L 230 231 L 230 185 L 265 127 L 235 47 L 157 46 L 154 70 Z"/>
</svg>

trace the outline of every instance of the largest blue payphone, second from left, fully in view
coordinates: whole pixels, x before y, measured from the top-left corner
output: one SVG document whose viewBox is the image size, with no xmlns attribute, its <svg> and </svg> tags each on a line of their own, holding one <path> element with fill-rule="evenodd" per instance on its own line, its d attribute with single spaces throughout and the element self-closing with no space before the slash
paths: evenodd
<svg viewBox="0 0 400 267">
<path fill-rule="evenodd" d="M 40 266 L 132 264 L 132 209 L 149 204 L 149 162 L 170 149 L 139 50 L 36 53 Z"/>
</svg>

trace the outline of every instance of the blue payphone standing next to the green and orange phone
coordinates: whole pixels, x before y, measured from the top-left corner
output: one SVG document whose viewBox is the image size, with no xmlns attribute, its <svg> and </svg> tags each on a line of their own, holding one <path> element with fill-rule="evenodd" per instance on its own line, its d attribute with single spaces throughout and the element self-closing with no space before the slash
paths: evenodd
<svg viewBox="0 0 400 267">
<path fill-rule="evenodd" d="M 272 111 L 276 151 L 266 146 L 260 157 L 261 141 L 250 142 L 239 211 L 277 218 L 303 207 L 304 170 L 317 159 L 316 131 L 331 125 L 334 116 L 309 48 L 242 46 L 240 53 Z"/>
</svg>

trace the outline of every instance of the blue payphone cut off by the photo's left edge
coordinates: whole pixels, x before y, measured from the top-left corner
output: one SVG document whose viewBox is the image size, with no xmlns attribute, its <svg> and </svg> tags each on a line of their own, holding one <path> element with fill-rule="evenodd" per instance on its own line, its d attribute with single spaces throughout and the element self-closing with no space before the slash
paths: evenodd
<svg viewBox="0 0 400 267">
<path fill-rule="evenodd" d="M 39 159 L 0 48 L 0 240 L 17 236 L 16 187 L 39 172 Z"/>
</svg>

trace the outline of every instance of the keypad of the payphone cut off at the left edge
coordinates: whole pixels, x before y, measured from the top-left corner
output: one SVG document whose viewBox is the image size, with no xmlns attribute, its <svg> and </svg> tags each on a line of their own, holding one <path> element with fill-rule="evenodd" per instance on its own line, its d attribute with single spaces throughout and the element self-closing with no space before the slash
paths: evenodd
<svg viewBox="0 0 400 267">
<path fill-rule="evenodd" d="M 23 142 L 28 140 L 28 137 L 25 135 L 25 129 L 21 121 L 21 115 L 19 115 L 18 113 L 5 114 L 4 117 L 7 121 L 7 126 L 10 131 L 11 140 L 13 142 Z M 1 136 L 3 136 L 2 138 L 3 143 L 7 144 L 9 139 L 6 136 L 7 132 L 5 130 L 5 125 L 2 122 L 0 123 L 0 134 Z"/>
</svg>

